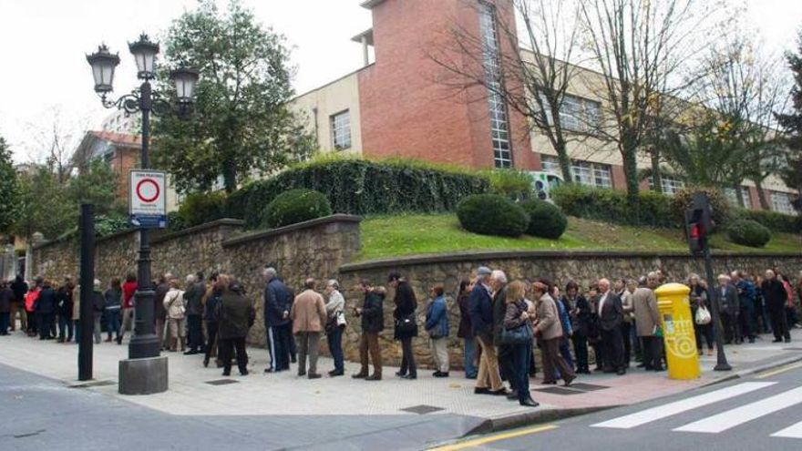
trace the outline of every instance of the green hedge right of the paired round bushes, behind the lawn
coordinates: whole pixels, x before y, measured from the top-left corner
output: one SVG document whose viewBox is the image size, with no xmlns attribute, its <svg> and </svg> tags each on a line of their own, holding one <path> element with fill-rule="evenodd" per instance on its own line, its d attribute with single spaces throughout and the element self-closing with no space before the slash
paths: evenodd
<svg viewBox="0 0 802 451">
<path fill-rule="evenodd" d="M 598 190 L 575 183 L 551 190 L 551 197 L 570 216 L 635 226 L 682 227 L 671 198 L 653 191 L 641 191 L 636 205 L 630 204 L 624 190 Z"/>
</svg>

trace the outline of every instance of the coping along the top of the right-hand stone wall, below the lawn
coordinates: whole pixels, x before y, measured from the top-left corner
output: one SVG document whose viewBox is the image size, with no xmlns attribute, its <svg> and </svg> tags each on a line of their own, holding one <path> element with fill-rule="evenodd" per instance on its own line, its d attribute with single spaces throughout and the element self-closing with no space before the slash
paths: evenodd
<svg viewBox="0 0 802 451">
<path fill-rule="evenodd" d="M 356 272 L 376 269 L 393 269 L 399 266 L 412 264 L 428 263 L 455 263 L 460 261 L 492 261 L 492 260 L 514 260 L 514 259 L 600 259 L 600 258 L 651 258 L 651 259 L 675 259 L 689 258 L 690 253 L 686 252 L 653 252 L 653 251 L 472 251 L 454 252 L 446 254 L 423 254 L 410 255 L 391 259 L 380 259 L 371 261 L 360 261 L 347 263 L 340 267 L 340 272 Z M 793 258 L 802 257 L 802 251 L 798 253 L 766 252 L 726 252 L 720 251 L 713 254 L 713 258 Z"/>
</svg>

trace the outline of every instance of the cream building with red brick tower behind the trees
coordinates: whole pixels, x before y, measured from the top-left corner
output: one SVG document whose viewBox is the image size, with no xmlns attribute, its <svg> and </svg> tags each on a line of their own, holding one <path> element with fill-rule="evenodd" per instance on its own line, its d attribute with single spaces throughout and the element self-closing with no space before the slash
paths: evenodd
<svg viewBox="0 0 802 451">
<path fill-rule="evenodd" d="M 355 36 L 365 54 L 365 67 L 292 102 L 309 118 L 309 128 L 324 152 L 344 152 L 367 158 L 403 157 L 471 168 L 517 168 L 559 172 L 556 153 L 546 138 L 530 133 L 526 118 L 507 108 L 503 98 L 486 87 L 461 91 L 439 79 L 442 67 L 429 51 L 447 47 L 454 26 L 479 36 L 485 76 L 504 83 L 497 61 L 512 48 L 499 36 L 498 21 L 514 23 L 511 0 L 367 0 L 373 27 Z M 375 61 L 368 60 L 372 46 Z M 522 58 L 527 59 L 526 55 Z M 581 132 L 577 116 L 600 116 L 602 99 L 589 86 L 600 76 L 581 69 L 569 89 L 563 124 Z M 595 78 L 595 79 L 594 79 Z M 574 179 L 599 188 L 625 188 L 622 159 L 615 146 L 588 138 L 572 142 Z M 639 161 L 649 168 L 649 161 Z M 663 192 L 672 194 L 682 181 L 663 177 Z M 643 183 L 648 189 L 648 182 Z M 759 209 L 754 184 L 741 188 L 745 207 Z M 772 210 L 792 213 L 795 195 L 782 181 L 764 184 Z M 727 190 L 733 203 L 735 190 Z"/>
</svg>

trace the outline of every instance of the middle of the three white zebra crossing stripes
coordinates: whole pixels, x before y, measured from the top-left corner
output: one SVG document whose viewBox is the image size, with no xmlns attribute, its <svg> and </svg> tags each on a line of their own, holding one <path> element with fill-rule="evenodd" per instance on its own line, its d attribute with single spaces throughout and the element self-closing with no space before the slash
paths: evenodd
<svg viewBox="0 0 802 451">
<path fill-rule="evenodd" d="M 755 403 L 742 405 L 718 415 L 709 416 L 704 420 L 677 427 L 674 431 L 717 434 L 736 425 L 743 425 L 763 415 L 772 414 L 799 403 L 802 403 L 802 387 L 761 399 Z"/>
</svg>

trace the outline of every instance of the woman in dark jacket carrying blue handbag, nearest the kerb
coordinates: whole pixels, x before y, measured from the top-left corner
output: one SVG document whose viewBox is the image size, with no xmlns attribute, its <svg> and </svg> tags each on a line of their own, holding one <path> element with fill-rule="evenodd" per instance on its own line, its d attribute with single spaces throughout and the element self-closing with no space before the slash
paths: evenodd
<svg viewBox="0 0 802 451">
<path fill-rule="evenodd" d="M 520 405 L 537 407 L 530 394 L 530 358 L 532 355 L 532 324 L 526 298 L 526 283 L 511 282 L 507 289 L 504 323 L 500 342 L 509 346 L 512 357 L 512 376 Z"/>
</svg>

